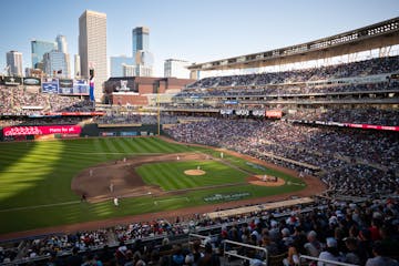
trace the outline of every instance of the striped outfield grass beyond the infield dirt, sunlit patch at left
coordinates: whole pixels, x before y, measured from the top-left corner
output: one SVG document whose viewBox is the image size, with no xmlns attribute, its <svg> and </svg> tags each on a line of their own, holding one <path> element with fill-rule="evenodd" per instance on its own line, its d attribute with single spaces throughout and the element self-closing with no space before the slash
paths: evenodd
<svg viewBox="0 0 399 266">
<path fill-rule="evenodd" d="M 0 209 L 79 200 L 71 181 L 83 168 L 142 153 L 184 152 L 155 137 L 0 144 Z"/>
</svg>

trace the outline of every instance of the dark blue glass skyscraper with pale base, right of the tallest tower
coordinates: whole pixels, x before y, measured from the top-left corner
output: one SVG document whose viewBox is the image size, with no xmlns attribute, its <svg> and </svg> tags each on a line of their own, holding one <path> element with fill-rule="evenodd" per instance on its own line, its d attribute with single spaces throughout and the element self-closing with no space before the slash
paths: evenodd
<svg viewBox="0 0 399 266">
<path fill-rule="evenodd" d="M 150 30 L 146 27 L 133 29 L 133 59 L 137 75 L 151 76 L 154 55 L 150 52 Z"/>
</svg>

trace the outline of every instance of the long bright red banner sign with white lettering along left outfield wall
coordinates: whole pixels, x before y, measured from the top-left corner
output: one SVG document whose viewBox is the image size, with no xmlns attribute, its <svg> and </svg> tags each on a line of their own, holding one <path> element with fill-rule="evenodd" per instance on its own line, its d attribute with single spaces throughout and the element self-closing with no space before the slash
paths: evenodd
<svg viewBox="0 0 399 266">
<path fill-rule="evenodd" d="M 8 126 L 3 129 L 4 136 L 12 135 L 48 135 L 48 134 L 80 134 L 79 125 L 43 125 L 43 126 Z"/>
</svg>

